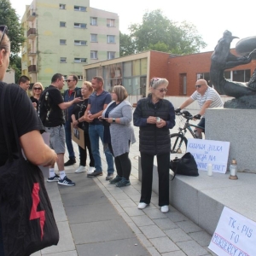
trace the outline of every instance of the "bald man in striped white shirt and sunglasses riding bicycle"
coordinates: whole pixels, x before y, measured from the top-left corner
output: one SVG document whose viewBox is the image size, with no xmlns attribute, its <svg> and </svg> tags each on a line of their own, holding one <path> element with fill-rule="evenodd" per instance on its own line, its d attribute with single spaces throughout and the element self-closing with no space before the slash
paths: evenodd
<svg viewBox="0 0 256 256">
<path fill-rule="evenodd" d="M 179 113 L 181 109 L 188 107 L 192 102 L 197 101 L 200 107 L 198 114 L 194 116 L 195 119 L 201 119 L 198 123 L 199 126 L 205 128 L 205 113 L 207 108 L 219 108 L 223 107 L 223 102 L 218 95 L 218 92 L 212 87 L 208 86 L 205 79 L 199 79 L 195 83 L 195 92 L 189 97 L 188 100 L 183 102 L 183 104 L 175 110 L 176 113 Z M 204 132 L 204 129 L 197 128 L 197 136 L 202 138 L 201 133 Z"/>
</svg>

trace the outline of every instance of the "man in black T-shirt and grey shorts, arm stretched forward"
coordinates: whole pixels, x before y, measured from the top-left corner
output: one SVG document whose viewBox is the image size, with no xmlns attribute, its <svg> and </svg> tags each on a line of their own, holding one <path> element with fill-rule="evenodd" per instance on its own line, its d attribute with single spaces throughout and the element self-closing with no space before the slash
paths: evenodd
<svg viewBox="0 0 256 256">
<path fill-rule="evenodd" d="M 71 102 L 64 102 L 60 91 L 63 86 L 63 76 L 61 73 L 55 73 L 51 79 L 51 84 L 40 96 L 38 113 L 45 127 L 45 131 L 49 132 L 49 146 L 53 148 L 58 155 L 57 166 L 60 176 L 55 174 L 55 165 L 51 165 L 49 166 L 49 177 L 47 181 L 49 183 L 58 182 L 59 185 L 64 186 L 74 186 L 75 183 L 67 178 L 64 170 L 65 120 L 62 110 L 69 108 L 75 103 L 82 102 L 83 100 L 74 98 Z"/>
</svg>

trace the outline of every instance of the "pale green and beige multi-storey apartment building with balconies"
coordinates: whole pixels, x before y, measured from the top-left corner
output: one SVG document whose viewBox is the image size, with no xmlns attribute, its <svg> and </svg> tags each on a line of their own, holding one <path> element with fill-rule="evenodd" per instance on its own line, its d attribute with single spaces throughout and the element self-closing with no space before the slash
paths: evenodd
<svg viewBox="0 0 256 256">
<path fill-rule="evenodd" d="M 90 0 L 34 0 L 21 24 L 21 72 L 32 83 L 48 86 L 55 73 L 82 81 L 84 64 L 119 57 L 119 16 L 90 8 Z"/>
</svg>

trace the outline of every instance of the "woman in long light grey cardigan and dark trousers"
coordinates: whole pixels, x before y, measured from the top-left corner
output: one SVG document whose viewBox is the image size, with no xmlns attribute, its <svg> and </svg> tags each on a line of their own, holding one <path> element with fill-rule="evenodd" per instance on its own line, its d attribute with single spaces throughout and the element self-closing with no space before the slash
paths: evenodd
<svg viewBox="0 0 256 256">
<path fill-rule="evenodd" d="M 125 101 L 128 93 L 122 85 L 113 86 L 112 100 L 103 111 L 102 118 L 110 126 L 104 128 L 110 130 L 110 143 L 108 148 L 113 153 L 117 176 L 110 180 L 117 187 L 131 185 L 131 160 L 129 159 L 130 144 L 135 143 L 132 121 L 131 103 Z"/>
</svg>

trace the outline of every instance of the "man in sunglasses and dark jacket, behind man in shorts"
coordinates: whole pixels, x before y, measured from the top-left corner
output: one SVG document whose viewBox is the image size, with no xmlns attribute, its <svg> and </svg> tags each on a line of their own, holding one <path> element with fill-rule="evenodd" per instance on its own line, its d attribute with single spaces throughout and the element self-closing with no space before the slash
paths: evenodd
<svg viewBox="0 0 256 256">
<path fill-rule="evenodd" d="M 79 78 L 76 75 L 68 76 L 67 82 L 67 90 L 64 92 L 64 102 L 71 102 L 74 98 L 81 96 L 81 89 L 76 87 L 78 84 Z M 72 166 L 76 163 L 76 157 L 73 151 L 73 143 L 72 143 L 72 133 L 71 133 L 71 116 L 73 114 L 73 106 L 67 108 L 65 111 L 65 135 L 66 135 L 66 145 L 69 160 L 64 164 L 64 166 Z"/>
</svg>

